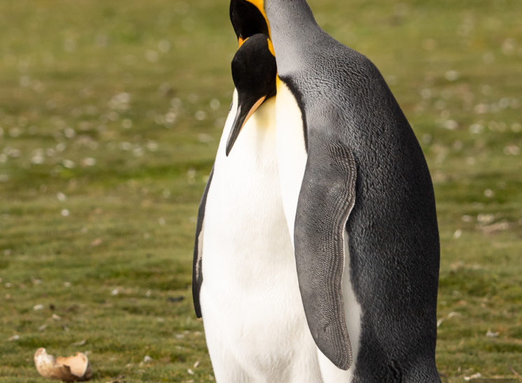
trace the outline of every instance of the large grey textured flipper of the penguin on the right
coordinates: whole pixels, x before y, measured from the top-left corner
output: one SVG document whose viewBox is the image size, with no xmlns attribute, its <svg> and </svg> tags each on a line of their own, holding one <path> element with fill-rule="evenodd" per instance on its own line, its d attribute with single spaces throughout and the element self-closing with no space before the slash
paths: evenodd
<svg viewBox="0 0 522 383">
<path fill-rule="evenodd" d="M 332 363 L 352 363 L 341 292 L 344 228 L 355 202 L 355 159 L 339 140 L 309 135 L 306 168 L 295 217 L 299 289 L 310 332 Z"/>
</svg>

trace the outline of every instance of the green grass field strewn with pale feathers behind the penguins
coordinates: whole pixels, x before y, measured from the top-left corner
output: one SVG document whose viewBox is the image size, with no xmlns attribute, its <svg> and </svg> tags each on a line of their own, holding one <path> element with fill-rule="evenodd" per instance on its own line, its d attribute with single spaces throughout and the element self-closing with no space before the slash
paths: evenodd
<svg viewBox="0 0 522 383">
<path fill-rule="evenodd" d="M 521 380 L 522 2 L 310 3 L 381 69 L 428 159 L 443 381 Z M 43 382 L 38 347 L 89 352 L 96 382 L 213 380 L 189 286 L 227 7 L 0 2 L 0 382 Z"/>
</svg>

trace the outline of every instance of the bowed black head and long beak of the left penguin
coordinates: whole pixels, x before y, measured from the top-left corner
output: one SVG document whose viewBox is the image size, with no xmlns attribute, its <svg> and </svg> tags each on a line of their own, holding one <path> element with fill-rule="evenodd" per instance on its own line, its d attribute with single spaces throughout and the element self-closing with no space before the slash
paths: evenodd
<svg viewBox="0 0 522 383">
<path fill-rule="evenodd" d="M 276 57 L 267 35 L 246 38 L 232 59 L 238 105 L 227 140 L 227 156 L 248 118 L 265 100 L 276 95 L 276 75 Z"/>
</svg>

